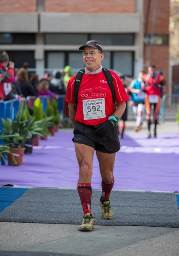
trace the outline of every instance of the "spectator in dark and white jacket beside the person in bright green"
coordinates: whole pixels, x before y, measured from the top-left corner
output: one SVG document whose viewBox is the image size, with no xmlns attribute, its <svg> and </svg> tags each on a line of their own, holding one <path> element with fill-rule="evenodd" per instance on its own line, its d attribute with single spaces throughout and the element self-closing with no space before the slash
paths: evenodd
<svg viewBox="0 0 179 256">
<path fill-rule="evenodd" d="M 61 78 L 60 71 L 54 70 L 52 76 L 53 78 L 51 79 L 49 86 L 50 90 L 58 95 L 66 94 L 65 85 L 63 83 L 63 79 Z"/>
</svg>

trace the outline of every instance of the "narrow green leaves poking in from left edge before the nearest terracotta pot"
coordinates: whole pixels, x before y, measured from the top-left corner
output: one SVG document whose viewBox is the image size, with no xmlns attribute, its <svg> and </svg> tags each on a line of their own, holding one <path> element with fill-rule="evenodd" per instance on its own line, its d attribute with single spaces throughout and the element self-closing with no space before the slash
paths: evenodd
<svg viewBox="0 0 179 256">
<path fill-rule="evenodd" d="M 3 134 L 3 135 L 0 136 L 0 140 L 8 140 L 8 139 L 12 139 L 12 138 L 18 139 L 18 140 L 22 139 L 22 137 L 20 137 L 17 134 L 12 134 L 12 135 L 4 135 Z M 3 154 L 11 154 L 11 157 L 12 157 L 14 163 L 17 163 L 13 154 L 12 154 L 12 148 L 10 148 L 10 145 L 8 143 L 0 144 L 0 156 L 3 158 L 4 161 L 6 161 Z"/>
</svg>

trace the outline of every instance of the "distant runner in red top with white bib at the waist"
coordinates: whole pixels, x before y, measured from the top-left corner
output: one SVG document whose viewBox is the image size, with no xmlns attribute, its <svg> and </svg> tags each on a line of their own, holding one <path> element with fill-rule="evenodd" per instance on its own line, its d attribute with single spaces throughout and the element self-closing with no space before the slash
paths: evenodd
<svg viewBox="0 0 179 256">
<path fill-rule="evenodd" d="M 156 126 L 158 124 L 158 116 L 161 104 L 161 88 L 165 84 L 163 76 L 156 73 L 156 67 L 151 65 L 148 67 L 148 73 L 143 76 L 145 87 L 145 110 L 148 122 L 148 139 L 151 138 L 151 108 L 153 106 L 153 119 L 154 119 L 154 138 L 156 138 Z"/>
</svg>

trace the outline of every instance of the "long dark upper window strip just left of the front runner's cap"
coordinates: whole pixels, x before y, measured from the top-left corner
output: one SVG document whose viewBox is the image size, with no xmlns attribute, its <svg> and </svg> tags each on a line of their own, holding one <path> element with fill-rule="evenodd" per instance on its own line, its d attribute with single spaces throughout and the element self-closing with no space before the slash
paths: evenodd
<svg viewBox="0 0 179 256">
<path fill-rule="evenodd" d="M 45 34 L 45 44 L 81 45 L 88 41 L 87 34 Z"/>
</svg>

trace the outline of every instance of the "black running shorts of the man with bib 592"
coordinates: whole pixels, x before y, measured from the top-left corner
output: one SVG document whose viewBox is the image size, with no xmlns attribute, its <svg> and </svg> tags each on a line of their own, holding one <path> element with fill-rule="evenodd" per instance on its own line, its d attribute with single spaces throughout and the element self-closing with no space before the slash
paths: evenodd
<svg viewBox="0 0 179 256">
<path fill-rule="evenodd" d="M 84 125 L 80 122 L 74 126 L 74 143 L 84 144 L 106 154 L 116 153 L 120 149 L 117 128 L 113 127 L 106 137 L 94 133 L 93 125 Z"/>
</svg>

